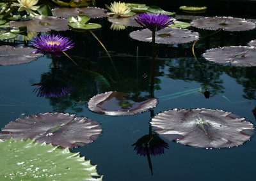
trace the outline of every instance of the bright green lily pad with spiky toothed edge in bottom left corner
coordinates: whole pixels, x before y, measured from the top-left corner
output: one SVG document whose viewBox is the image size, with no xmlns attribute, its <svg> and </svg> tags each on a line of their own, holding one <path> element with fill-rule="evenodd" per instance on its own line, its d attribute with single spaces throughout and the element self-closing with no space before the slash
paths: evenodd
<svg viewBox="0 0 256 181">
<path fill-rule="evenodd" d="M 79 153 L 35 140 L 0 141 L 1 180 L 102 180 Z"/>
</svg>

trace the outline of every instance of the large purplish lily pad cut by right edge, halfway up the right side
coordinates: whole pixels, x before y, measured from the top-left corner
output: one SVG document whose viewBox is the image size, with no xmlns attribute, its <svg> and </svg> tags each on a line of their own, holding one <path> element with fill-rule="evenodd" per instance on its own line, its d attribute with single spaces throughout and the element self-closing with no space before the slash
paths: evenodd
<svg viewBox="0 0 256 181">
<path fill-rule="evenodd" d="M 232 66 L 256 66 L 255 56 L 255 48 L 246 46 L 212 48 L 203 54 L 208 61 Z"/>
</svg>

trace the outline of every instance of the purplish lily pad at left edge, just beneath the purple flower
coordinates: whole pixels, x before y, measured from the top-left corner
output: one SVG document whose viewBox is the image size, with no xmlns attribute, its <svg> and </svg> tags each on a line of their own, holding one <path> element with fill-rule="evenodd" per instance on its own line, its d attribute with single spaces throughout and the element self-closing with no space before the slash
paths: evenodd
<svg viewBox="0 0 256 181">
<path fill-rule="evenodd" d="M 35 51 L 34 48 L 29 47 L 12 47 L 12 46 L 1 46 L 0 47 L 0 65 L 11 66 L 24 64 L 35 61 L 38 57 L 43 54 L 30 54 Z"/>
</svg>

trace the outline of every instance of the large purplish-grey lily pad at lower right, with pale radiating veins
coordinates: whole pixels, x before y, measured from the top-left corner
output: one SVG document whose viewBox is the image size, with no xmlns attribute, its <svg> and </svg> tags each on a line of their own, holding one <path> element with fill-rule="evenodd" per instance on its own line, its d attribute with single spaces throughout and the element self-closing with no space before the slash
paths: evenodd
<svg viewBox="0 0 256 181">
<path fill-rule="evenodd" d="M 173 109 L 152 118 L 156 133 L 183 145 L 228 148 L 242 145 L 254 133 L 253 124 L 230 112 L 210 109 Z M 179 135 L 179 138 L 177 138 Z M 176 138 L 175 138 L 176 137 Z"/>
</svg>

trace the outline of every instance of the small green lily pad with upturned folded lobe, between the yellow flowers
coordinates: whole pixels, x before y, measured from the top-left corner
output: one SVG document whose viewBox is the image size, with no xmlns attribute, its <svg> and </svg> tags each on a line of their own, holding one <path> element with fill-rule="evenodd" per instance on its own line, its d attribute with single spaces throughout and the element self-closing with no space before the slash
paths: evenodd
<svg viewBox="0 0 256 181">
<path fill-rule="evenodd" d="M 100 24 L 87 23 L 89 20 L 90 20 L 90 17 L 86 15 L 78 15 L 77 18 L 69 17 L 68 25 L 70 25 L 74 29 L 85 29 L 85 30 L 99 29 L 101 27 Z"/>
</svg>

